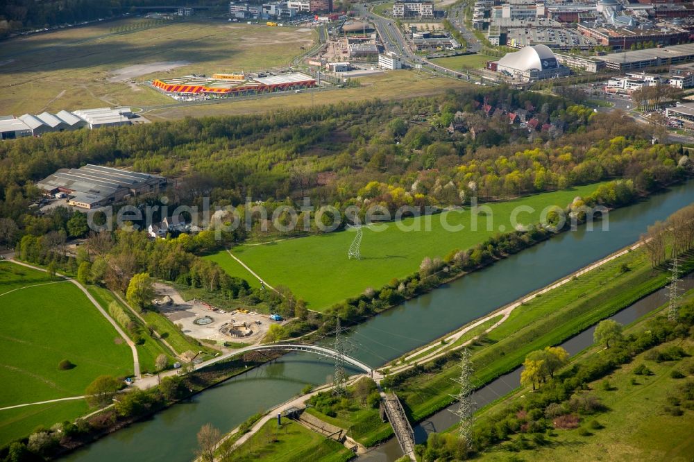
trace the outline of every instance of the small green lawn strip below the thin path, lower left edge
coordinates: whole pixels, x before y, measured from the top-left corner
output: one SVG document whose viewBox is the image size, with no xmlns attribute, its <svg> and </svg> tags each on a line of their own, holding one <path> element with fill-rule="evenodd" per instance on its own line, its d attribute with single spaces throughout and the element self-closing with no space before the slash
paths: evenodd
<svg viewBox="0 0 694 462">
<path fill-rule="evenodd" d="M 0 411 L 0 447 L 31 434 L 37 427 L 51 427 L 87 413 L 85 400 L 60 401 Z"/>
</svg>

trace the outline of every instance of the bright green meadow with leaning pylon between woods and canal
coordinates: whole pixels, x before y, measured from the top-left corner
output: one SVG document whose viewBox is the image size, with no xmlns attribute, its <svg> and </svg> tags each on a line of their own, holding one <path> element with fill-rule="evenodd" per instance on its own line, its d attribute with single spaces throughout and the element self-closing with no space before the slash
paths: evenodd
<svg viewBox="0 0 694 462">
<path fill-rule="evenodd" d="M 511 211 L 520 205 L 533 207 L 532 214 L 521 214 L 519 221 L 536 223 L 541 210 L 548 205 L 565 207 L 575 196 L 586 196 L 598 185 L 588 185 L 516 200 L 490 204 L 492 215 L 478 217 L 476 232 L 471 228 L 469 209 L 445 212 L 440 215 L 405 219 L 402 224 L 421 225 L 420 232 L 404 232 L 395 223 L 387 223 L 386 230 L 364 231 L 362 260 L 348 260 L 347 250 L 354 232 L 319 234 L 301 239 L 290 239 L 261 246 L 237 246 L 232 253 L 271 286 L 285 285 L 308 302 L 314 310 L 324 310 L 345 298 L 357 296 L 366 288 L 378 288 L 393 277 L 404 277 L 418 270 L 424 257 L 443 257 L 455 248 L 469 248 L 488 239 L 498 231 L 511 230 Z M 459 232 L 447 231 L 441 223 L 462 224 Z M 487 230 L 490 221 L 492 230 Z M 426 221 L 431 222 L 430 231 Z M 226 250 L 208 257 L 214 259 L 230 273 L 251 281 L 255 279 L 235 262 Z"/>
</svg>

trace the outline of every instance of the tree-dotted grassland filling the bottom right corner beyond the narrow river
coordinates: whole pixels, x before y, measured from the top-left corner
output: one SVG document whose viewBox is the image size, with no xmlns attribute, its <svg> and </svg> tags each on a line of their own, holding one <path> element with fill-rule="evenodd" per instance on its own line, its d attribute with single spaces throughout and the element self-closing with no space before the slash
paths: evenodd
<svg viewBox="0 0 694 462">
<path fill-rule="evenodd" d="M 668 306 L 662 305 L 625 327 L 624 340 L 611 348 L 596 344 L 577 354 L 537 391 L 519 388 L 482 409 L 474 426 L 477 456 L 688 460 L 694 450 L 694 340 L 688 329 L 693 301 L 690 291 L 677 325 L 667 320 Z M 577 384 L 580 391 L 573 392 Z M 489 429 L 503 419 L 507 434 L 489 438 Z"/>
</svg>

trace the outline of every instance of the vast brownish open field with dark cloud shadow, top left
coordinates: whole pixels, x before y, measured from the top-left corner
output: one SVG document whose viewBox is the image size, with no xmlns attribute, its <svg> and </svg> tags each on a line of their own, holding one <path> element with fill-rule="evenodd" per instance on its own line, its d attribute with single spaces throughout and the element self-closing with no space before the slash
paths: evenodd
<svg viewBox="0 0 694 462">
<path fill-rule="evenodd" d="M 137 28 L 146 20 L 124 19 L 4 41 L 2 114 L 173 103 L 143 83 L 155 77 L 285 66 L 316 39 L 315 31 L 289 27 L 201 20 L 151 23 Z"/>
</svg>

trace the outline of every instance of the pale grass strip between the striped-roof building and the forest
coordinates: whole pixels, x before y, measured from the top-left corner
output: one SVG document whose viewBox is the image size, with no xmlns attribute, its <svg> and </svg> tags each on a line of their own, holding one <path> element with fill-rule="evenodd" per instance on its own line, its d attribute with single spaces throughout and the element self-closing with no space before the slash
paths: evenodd
<svg viewBox="0 0 694 462">
<path fill-rule="evenodd" d="M 221 100 L 221 103 L 206 105 L 180 105 L 175 108 L 151 110 L 144 115 L 152 121 L 157 121 L 183 119 L 183 117 L 188 116 L 257 114 L 278 108 L 308 108 L 312 105 L 332 104 L 337 101 L 365 101 L 375 98 L 400 100 L 418 96 L 432 96 L 446 92 L 448 89 L 470 86 L 469 83 L 462 80 L 434 77 L 425 72 L 416 73 L 409 70 L 388 71 L 376 76 L 359 77 L 356 80 L 362 84 L 361 87 L 301 92 L 300 94 L 282 93 L 272 96 L 256 96 L 253 99 L 229 99 Z"/>
</svg>

